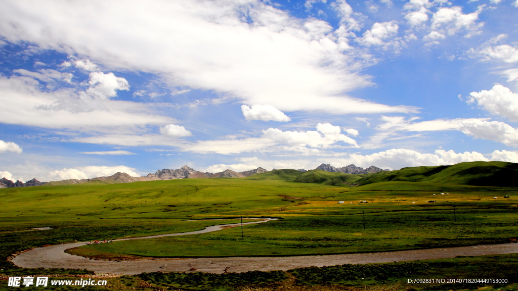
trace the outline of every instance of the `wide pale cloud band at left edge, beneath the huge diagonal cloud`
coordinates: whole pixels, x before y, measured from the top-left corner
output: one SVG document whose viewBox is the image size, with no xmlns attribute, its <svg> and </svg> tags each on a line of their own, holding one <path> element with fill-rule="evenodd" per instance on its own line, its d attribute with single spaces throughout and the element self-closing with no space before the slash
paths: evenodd
<svg viewBox="0 0 518 291">
<path fill-rule="evenodd" d="M 6 124 L 101 131 L 119 127 L 121 132 L 175 122 L 157 113 L 156 104 L 92 99 L 74 89 L 42 91 L 30 77 L 0 76 L 0 92 L 1 103 L 9 108 L 0 114 L 0 122 Z"/>
</svg>

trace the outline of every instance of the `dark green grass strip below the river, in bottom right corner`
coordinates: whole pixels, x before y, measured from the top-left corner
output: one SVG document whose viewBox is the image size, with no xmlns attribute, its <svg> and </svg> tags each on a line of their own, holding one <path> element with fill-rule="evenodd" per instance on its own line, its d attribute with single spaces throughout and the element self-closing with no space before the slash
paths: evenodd
<svg viewBox="0 0 518 291">
<path fill-rule="evenodd" d="M 469 290 L 483 286 L 503 288 L 505 284 L 484 284 L 465 279 L 505 279 L 506 284 L 518 283 L 518 254 L 496 256 L 459 256 L 453 259 L 427 260 L 415 263 L 386 263 L 308 267 L 288 270 L 299 286 L 342 285 L 365 286 L 402 284 L 406 290 Z M 406 279 L 428 279 L 434 283 L 406 283 Z M 437 283 L 448 278 L 458 283 Z M 459 279 L 459 280 L 457 280 Z"/>
</svg>

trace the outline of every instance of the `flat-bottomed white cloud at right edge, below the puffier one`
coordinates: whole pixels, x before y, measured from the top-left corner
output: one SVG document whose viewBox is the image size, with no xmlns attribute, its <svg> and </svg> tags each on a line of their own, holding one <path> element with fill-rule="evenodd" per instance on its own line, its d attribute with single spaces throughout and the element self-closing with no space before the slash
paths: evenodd
<svg viewBox="0 0 518 291">
<path fill-rule="evenodd" d="M 501 142 L 506 146 L 518 146 L 518 130 L 498 121 L 464 120 L 458 130 L 464 134 Z"/>
</svg>

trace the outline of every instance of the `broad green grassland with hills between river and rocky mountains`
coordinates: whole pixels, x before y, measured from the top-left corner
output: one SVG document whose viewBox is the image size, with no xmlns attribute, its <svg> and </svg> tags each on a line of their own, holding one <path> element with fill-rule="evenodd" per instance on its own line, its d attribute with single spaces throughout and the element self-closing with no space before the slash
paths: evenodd
<svg viewBox="0 0 518 291">
<path fill-rule="evenodd" d="M 478 171 L 486 179 L 490 177 L 486 172 L 514 171 L 516 164 L 481 163 L 370 175 L 276 170 L 240 179 L 4 188 L 0 189 L 0 256 L 5 260 L 34 246 L 74 240 L 190 231 L 221 221 L 186 220 L 241 216 L 282 219 L 247 225 L 242 239 L 240 229 L 230 228 L 189 237 L 89 245 L 70 252 L 106 257 L 279 256 L 507 242 L 518 234 L 518 187 L 473 185 L 472 173 L 469 179 L 454 174 Z M 405 177 L 415 173 L 415 179 L 383 180 L 391 174 L 403 177 L 401 171 Z M 379 182 L 367 181 L 374 178 Z M 367 182 L 356 187 L 347 184 L 361 181 Z M 33 227 L 53 229 L 34 231 Z M 168 247 L 171 244 L 175 248 Z M 5 261 L 2 264 L 10 268 Z"/>
</svg>

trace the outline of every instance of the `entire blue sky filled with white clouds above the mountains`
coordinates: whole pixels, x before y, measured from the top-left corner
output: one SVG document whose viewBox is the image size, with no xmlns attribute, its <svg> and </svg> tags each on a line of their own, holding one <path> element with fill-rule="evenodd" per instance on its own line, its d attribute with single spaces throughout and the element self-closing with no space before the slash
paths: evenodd
<svg viewBox="0 0 518 291">
<path fill-rule="evenodd" d="M 518 163 L 517 0 L 0 3 L 0 176 Z"/>
</svg>

